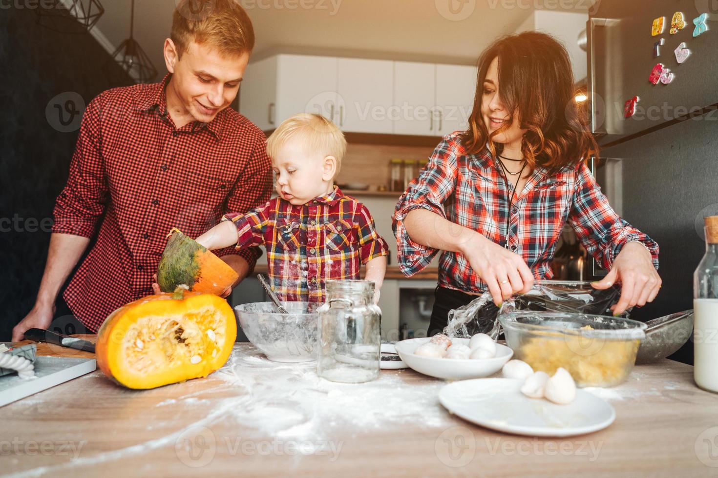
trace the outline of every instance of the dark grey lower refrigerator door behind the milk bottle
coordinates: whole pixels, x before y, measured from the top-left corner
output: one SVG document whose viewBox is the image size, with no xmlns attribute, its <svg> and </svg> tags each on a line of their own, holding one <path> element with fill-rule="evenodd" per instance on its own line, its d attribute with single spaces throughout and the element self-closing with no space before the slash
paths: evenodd
<svg viewBox="0 0 718 478">
<path fill-rule="evenodd" d="M 661 292 L 631 318 L 693 308 L 693 272 L 705 252 L 696 222 L 718 214 L 717 146 L 713 112 L 601 150 L 601 156 L 624 160 L 623 216 L 661 247 Z M 690 345 L 672 358 L 693 363 Z"/>
</svg>

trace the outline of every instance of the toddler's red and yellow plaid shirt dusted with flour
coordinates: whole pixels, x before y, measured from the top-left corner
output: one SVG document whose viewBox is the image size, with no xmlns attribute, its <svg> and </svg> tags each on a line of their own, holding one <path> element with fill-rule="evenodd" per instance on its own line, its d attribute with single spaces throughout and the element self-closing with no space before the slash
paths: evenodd
<svg viewBox="0 0 718 478">
<path fill-rule="evenodd" d="M 237 226 L 238 249 L 266 246 L 281 300 L 324 302 L 327 279 L 359 279 L 361 264 L 388 254 L 366 206 L 337 187 L 301 206 L 276 198 L 223 219 Z"/>
</svg>

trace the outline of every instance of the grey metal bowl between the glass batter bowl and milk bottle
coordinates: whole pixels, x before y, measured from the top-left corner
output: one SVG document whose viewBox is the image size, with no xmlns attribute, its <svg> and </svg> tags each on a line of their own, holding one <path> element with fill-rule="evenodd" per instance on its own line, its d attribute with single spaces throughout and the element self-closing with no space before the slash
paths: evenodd
<svg viewBox="0 0 718 478">
<path fill-rule="evenodd" d="M 664 315 L 645 322 L 645 339 L 640 343 L 635 363 L 666 358 L 688 342 L 693 333 L 693 309 Z"/>
</svg>

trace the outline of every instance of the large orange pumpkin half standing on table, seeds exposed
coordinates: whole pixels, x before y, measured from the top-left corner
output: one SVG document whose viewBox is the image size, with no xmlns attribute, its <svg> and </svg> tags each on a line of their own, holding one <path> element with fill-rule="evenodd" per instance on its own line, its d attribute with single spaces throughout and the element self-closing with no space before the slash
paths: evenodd
<svg viewBox="0 0 718 478">
<path fill-rule="evenodd" d="M 149 295 L 107 317 L 95 345 L 106 376 L 127 388 L 155 388 L 206 377 L 228 360 L 237 325 L 232 307 L 212 294 Z"/>
</svg>

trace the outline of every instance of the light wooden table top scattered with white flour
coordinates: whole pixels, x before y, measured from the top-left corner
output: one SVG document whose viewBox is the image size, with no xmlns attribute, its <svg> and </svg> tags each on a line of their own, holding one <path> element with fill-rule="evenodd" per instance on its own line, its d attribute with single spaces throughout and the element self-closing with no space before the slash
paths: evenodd
<svg viewBox="0 0 718 478">
<path fill-rule="evenodd" d="M 40 355 L 91 354 L 38 346 Z M 605 430 L 570 439 L 501 434 L 447 413 L 443 381 L 382 371 L 333 384 L 313 365 L 238 344 L 208 378 L 131 391 L 95 371 L 0 408 L 0 463 L 17 476 L 716 476 L 718 396 L 661 360 L 597 389 Z"/>
</svg>

